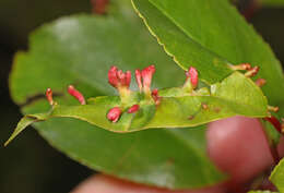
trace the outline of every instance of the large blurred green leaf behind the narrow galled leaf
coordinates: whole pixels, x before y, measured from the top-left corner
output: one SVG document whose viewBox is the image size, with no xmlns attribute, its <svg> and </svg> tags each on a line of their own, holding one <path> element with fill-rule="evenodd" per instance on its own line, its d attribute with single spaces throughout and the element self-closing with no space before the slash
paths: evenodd
<svg viewBox="0 0 284 193">
<path fill-rule="evenodd" d="M 154 63 L 154 87 L 182 84 L 185 72 L 158 47 L 129 5 L 111 2 L 107 16 L 64 17 L 33 33 L 29 51 L 16 56 L 10 76 L 11 95 L 25 105 L 25 114 L 49 109 L 43 99 L 47 87 L 64 106 L 78 102 L 66 95 L 69 84 L 86 98 L 114 95 L 106 76 L 113 64 L 133 71 Z M 225 180 L 206 155 L 205 125 L 126 134 L 67 118 L 33 125 L 68 156 L 119 178 L 169 189 L 201 188 Z"/>
</svg>

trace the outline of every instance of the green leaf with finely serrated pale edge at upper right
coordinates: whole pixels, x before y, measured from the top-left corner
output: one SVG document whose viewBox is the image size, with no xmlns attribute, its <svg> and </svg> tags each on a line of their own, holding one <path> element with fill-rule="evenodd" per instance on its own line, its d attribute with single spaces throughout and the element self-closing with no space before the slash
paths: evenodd
<svg viewBox="0 0 284 193">
<path fill-rule="evenodd" d="M 284 76 L 270 47 L 236 9 L 224 0 L 132 0 L 150 32 L 182 68 L 196 67 L 214 84 L 227 76 L 229 64 L 259 65 L 263 92 L 271 105 L 284 104 Z M 225 15 L 225 16 L 224 16 Z"/>
</svg>

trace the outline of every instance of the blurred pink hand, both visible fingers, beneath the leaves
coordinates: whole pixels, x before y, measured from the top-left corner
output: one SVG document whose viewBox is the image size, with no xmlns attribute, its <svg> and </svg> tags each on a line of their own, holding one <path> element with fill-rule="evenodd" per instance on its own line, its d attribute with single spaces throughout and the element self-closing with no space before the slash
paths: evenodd
<svg viewBox="0 0 284 193">
<path fill-rule="evenodd" d="M 210 158 L 230 176 L 222 184 L 194 191 L 169 191 L 97 174 L 86 179 L 71 193 L 240 193 L 245 191 L 239 188 L 246 186 L 273 164 L 265 135 L 257 119 L 234 117 L 212 122 L 206 137 Z M 284 138 L 281 140 L 279 152 L 284 155 Z"/>
</svg>

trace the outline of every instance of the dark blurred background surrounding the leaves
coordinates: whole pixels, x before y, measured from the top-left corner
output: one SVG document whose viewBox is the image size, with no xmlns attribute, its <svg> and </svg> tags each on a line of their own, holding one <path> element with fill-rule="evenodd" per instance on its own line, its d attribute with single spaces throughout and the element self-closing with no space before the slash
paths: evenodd
<svg viewBox="0 0 284 193">
<path fill-rule="evenodd" d="M 35 130 L 2 146 L 21 118 L 8 87 L 13 55 L 27 50 L 28 34 L 43 23 L 91 10 L 88 0 L 0 0 L 0 193 L 67 193 L 94 172 L 54 149 Z M 284 9 L 262 8 L 250 22 L 284 63 Z"/>
</svg>

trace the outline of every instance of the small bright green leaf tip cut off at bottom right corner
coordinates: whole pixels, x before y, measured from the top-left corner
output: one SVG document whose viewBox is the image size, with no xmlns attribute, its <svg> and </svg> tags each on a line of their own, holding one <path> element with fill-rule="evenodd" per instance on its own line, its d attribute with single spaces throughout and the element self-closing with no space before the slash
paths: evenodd
<svg viewBox="0 0 284 193">
<path fill-rule="evenodd" d="M 281 193 L 284 192 L 284 159 L 273 169 L 270 180 L 279 189 Z"/>
</svg>

